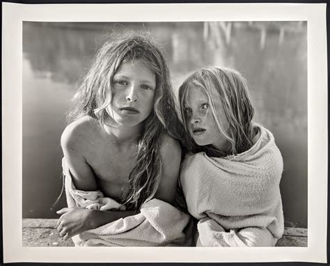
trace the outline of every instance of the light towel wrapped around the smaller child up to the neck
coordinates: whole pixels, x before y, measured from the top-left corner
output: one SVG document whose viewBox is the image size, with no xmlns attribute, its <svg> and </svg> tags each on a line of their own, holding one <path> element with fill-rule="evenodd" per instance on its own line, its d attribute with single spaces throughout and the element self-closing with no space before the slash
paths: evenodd
<svg viewBox="0 0 330 266">
<path fill-rule="evenodd" d="M 274 236 L 268 245 L 274 245 L 283 235 L 279 189 L 283 159 L 272 133 L 255 126 L 259 137 L 246 152 L 228 157 L 199 152 L 184 158 L 180 181 L 189 213 L 200 220 L 202 246 L 265 245 L 268 231 Z M 249 240 L 239 235 L 242 228 Z"/>
</svg>

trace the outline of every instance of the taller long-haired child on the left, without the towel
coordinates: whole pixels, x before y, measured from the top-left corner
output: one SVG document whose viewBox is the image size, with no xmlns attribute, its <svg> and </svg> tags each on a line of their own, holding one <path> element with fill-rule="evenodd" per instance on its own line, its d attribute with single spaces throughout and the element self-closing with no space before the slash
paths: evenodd
<svg viewBox="0 0 330 266">
<path fill-rule="evenodd" d="M 180 123 L 166 61 L 155 42 L 132 33 L 106 42 L 75 100 L 61 137 L 68 174 L 75 189 L 101 191 L 123 208 L 63 208 L 57 212 L 61 237 L 68 240 L 139 213 L 152 198 L 173 204 Z"/>
</svg>

